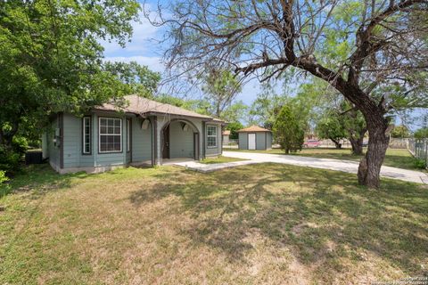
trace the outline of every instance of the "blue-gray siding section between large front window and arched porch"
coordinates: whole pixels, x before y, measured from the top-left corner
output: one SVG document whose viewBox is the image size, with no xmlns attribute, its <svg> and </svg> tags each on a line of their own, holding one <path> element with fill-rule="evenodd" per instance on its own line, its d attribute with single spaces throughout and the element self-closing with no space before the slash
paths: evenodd
<svg viewBox="0 0 428 285">
<path fill-rule="evenodd" d="M 141 118 L 132 118 L 132 162 L 152 159 L 152 125 L 144 130 L 142 122 Z"/>
</svg>

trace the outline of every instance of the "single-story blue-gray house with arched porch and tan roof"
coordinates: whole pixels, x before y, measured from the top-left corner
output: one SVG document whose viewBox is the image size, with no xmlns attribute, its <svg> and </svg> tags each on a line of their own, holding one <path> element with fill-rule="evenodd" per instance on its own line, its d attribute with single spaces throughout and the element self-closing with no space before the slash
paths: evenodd
<svg viewBox="0 0 428 285">
<path fill-rule="evenodd" d="M 53 116 L 43 135 L 44 158 L 59 173 L 97 173 L 222 153 L 223 121 L 136 95 L 126 100 L 126 107 L 104 104 L 80 118 Z"/>
</svg>

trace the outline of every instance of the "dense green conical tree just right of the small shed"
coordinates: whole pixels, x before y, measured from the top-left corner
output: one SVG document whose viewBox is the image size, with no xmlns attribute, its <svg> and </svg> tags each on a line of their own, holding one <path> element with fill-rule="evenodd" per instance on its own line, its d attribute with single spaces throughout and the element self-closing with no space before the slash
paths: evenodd
<svg viewBox="0 0 428 285">
<path fill-rule="evenodd" d="M 281 145 L 281 148 L 286 154 L 290 151 L 300 151 L 304 141 L 304 132 L 299 124 L 292 108 L 289 105 L 284 107 L 279 112 L 273 127 L 276 142 Z"/>
</svg>

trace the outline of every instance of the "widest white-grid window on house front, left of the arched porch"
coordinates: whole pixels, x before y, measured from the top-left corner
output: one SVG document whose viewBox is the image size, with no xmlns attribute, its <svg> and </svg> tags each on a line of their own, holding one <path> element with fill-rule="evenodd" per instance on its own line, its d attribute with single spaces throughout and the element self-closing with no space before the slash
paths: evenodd
<svg viewBox="0 0 428 285">
<path fill-rule="evenodd" d="M 99 118 L 98 134 L 100 152 L 122 151 L 121 118 Z"/>
</svg>

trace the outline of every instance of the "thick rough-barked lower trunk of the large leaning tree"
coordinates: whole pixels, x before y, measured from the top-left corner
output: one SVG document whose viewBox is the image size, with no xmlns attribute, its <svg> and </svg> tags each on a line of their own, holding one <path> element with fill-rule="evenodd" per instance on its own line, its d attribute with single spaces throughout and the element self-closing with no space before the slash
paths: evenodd
<svg viewBox="0 0 428 285">
<path fill-rule="evenodd" d="M 368 149 L 358 167 L 358 183 L 379 188 L 380 172 L 390 142 L 389 123 L 382 112 L 363 112 L 368 129 Z"/>
</svg>

